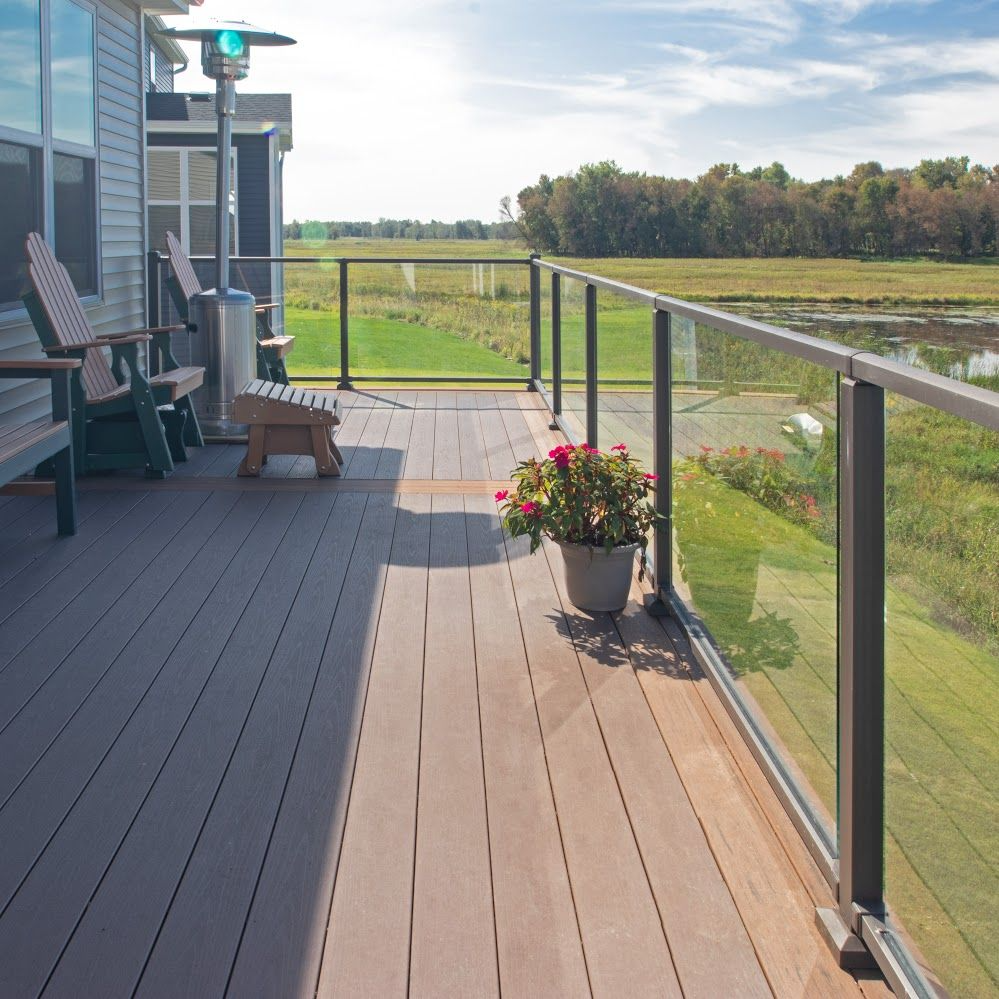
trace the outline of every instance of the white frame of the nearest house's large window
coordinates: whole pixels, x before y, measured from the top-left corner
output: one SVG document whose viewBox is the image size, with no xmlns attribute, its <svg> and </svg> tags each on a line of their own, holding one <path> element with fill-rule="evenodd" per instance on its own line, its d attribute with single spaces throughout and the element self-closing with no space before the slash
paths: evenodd
<svg viewBox="0 0 999 999">
<path fill-rule="evenodd" d="M 52 0 L 39 0 L 39 28 L 41 31 L 41 96 L 42 96 L 42 131 L 25 132 L 19 128 L 11 128 L 9 125 L 0 123 L 0 142 L 7 142 L 17 146 L 27 146 L 31 149 L 41 150 L 41 183 L 39 190 L 39 201 L 41 204 L 42 235 L 46 242 L 55 246 L 55 165 L 54 156 L 58 153 L 63 156 L 74 156 L 78 159 L 91 160 L 93 162 L 94 175 L 94 271 L 96 277 L 96 289 L 87 295 L 80 296 L 80 302 L 84 305 L 100 303 L 104 296 L 104 261 L 103 261 L 103 239 L 101 232 L 101 171 L 100 171 L 100 114 L 98 104 L 100 92 L 98 90 L 98 50 L 99 50 L 99 19 L 97 16 L 97 4 L 93 0 L 69 0 L 70 3 L 81 8 L 90 16 L 93 28 L 93 92 L 94 102 L 92 107 L 94 125 L 94 145 L 81 145 L 78 142 L 71 142 L 67 139 L 56 139 L 52 135 Z M 6 319 L 10 314 L 23 313 L 24 305 L 20 301 L 0 302 L 0 319 Z"/>
</svg>

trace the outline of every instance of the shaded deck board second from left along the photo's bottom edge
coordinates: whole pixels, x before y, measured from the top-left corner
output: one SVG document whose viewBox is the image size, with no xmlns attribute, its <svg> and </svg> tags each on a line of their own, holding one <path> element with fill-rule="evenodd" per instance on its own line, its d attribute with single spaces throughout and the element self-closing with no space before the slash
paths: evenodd
<svg viewBox="0 0 999 999">
<path fill-rule="evenodd" d="M 76 927 L 47 993 L 115 996 L 130 995 L 135 988 L 260 692 L 287 605 L 328 506 L 328 498 L 275 498 L 268 512 L 273 534 L 263 548 L 264 569 L 256 575 L 239 621 Z M 290 557 L 275 557 L 279 550 Z M 269 606 L 275 613 L 267 613 Z M 156 858 L 155 864 L 149 863 L 150 857 Z"/>
</svg>

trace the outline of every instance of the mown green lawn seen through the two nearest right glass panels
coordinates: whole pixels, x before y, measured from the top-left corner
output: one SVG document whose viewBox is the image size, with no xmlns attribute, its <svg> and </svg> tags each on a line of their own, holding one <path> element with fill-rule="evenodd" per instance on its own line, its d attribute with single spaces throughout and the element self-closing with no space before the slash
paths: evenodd
<svg viewBox="0 0 999 999">
<path fill-rule="evenodd" d="M 716 480 L 679 489 L 695 607 L 835 811 L 835 551 Z M 955 995 L 999 982 L 999 659 L 889 583 L 889 900 Z"/>
</svg>

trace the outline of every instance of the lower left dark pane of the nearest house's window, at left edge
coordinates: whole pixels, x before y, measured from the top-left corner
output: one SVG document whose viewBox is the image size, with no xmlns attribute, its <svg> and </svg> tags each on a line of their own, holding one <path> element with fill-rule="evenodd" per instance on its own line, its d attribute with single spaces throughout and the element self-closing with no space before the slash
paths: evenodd
<svg viewBox="0 0 999 999">
<path fill-rule="evenodd" d="M 20 304 L 27 290 L 24 240 L 42 227 L 39 151 L 0 142 L 0 306 Z"/>
</svg>

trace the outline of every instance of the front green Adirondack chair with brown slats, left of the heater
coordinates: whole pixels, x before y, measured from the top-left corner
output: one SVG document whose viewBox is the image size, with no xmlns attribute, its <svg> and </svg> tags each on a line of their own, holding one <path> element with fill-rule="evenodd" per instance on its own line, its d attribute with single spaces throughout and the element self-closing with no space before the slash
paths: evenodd
<svg viewBox="0 0 999 999">
<path fill-rule="evenodd" d="M 175 461 L 187 460 L 188 445 L 204 445 L 190 398 L 204 368 L 181 367 L 170 349 L 170 333 L 183 327 L 95 334 L 69 272 L 45 240 L 33 232 L 25 248 L 33 290 L 23 301 L 42 349 L 83 362 L 71 385 L 76 474 L 144 468 L 163 478 Z M 149 342 L 160 352 L 161 373 L 151 378 L 139 363 L 139 344 Z"/>
</svg>

